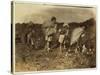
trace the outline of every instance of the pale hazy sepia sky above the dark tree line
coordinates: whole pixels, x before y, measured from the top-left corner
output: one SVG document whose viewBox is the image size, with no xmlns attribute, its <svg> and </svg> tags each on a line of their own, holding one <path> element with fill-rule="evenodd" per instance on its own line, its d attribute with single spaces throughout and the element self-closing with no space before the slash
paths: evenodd
<svg viewBox="0 0 100 75">
<path fill-rule="evenodd" d="M 95 18 L 95 13 L 95 8 L 15 3 L 15 23 L 32 21 L 42 24 L 52 16 L 57 18 L 57 22 L 83 22 L 90 18 Z"/>
</svg>

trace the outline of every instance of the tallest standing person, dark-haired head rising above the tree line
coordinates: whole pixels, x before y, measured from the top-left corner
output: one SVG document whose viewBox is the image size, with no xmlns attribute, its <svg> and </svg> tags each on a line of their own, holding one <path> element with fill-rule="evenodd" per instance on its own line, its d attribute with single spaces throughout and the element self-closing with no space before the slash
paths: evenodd
<svg viewBox="0 0 100 75">
<path fill-rule="evenodd" d="M 51 20 L 44 22 L 43 25 L 46 41 L 45 49 L 49 52 L 52 35 L 56 33 L 56 17 L 52 17 Z"/>
</svg>

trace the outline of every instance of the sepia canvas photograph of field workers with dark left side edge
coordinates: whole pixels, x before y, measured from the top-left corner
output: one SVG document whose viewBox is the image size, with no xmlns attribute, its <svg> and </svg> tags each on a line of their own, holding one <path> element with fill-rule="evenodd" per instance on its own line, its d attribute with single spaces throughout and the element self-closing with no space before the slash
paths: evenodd
<svg viewBox="0 0 100 75">
<path fill-rule="evenodd" d="M 12 72 L 96 68 L 96 7 L 11 3 Z"/>
</svg>

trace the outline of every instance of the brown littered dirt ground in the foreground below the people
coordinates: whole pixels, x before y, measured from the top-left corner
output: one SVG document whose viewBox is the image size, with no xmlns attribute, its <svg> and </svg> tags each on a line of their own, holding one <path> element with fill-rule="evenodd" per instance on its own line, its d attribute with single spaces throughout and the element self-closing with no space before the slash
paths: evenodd
<svg viewBox="0 0 100 75">
<path fill-rule="evenodd" d="M 96 54 L 67 53 L 60 54 L 59 48 L 46 50 L 34 50 L 25 44 L 16 45 L 16 72 L 63 70 L 76 68 L 95 68 Z"/>
</svg>

